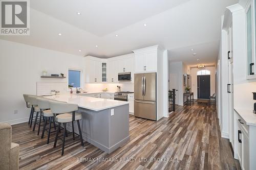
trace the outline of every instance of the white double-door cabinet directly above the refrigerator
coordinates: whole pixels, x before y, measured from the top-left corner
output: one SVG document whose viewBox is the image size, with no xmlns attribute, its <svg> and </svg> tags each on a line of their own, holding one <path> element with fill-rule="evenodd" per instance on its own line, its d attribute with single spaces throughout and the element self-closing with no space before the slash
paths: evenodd
<svg viewBox="0 0 256 170">
<path fill-rule="evenodd" d="M 134 50 L 135 73 L 157 72 L 158 45 Z"/>
</svg>

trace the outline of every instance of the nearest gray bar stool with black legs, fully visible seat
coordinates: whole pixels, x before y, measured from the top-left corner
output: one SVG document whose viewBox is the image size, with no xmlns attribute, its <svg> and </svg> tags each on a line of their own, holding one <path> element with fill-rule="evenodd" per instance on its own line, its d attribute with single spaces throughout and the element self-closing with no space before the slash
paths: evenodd
<svg viewBox="0 0 256 170">
<path fill-rule="evenodd" d="M 60 138 L 59 135 L 59 130 L 60 130 L 60 124 L 63 123 L 64 127 L 64 133 L 63 133 L 63 139 L 62 140 L 62 150 L 61 150 L 61 155 L 64 154 L 64 147 L 65 147 L 65 137 L 67 133 L 66 125 L 67 123 L 72 123 L 72 130 L 73 130 L 73 139 L 75 138 L 75 132 L 74 132 L 74 121 L 77 122 L 78 130 L 79 130 L 79 135 L 80 140 L 81 140 L 81 145 L 83 147 L 83 139 L 82 139 L 82 132 L 81 132 L 81 127 L 79 120 L 82 118 L 81 113 L 76 113 L 78 110 L 78 105 L 76 104 L 69 104 L 69 103 L 60 103 L 60 102 L 55 102 L 55 101 L 49 101 L 50 104 L 50 109 L 53 113 L 54 121 L 58 123 L 58 130 L 55 136 L 55 141 L 54 141 L 54 146 L 53 148 L 56 148 L 57 140 Z M 58 114 L 58 115 L 56 115 Z"/>
</svg>

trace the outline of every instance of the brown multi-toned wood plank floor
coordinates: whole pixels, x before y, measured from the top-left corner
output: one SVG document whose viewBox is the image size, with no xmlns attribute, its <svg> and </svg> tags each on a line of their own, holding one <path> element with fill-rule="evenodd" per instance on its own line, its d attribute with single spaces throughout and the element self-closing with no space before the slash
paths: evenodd
<svg viewBox="0 0 256 170">
<path fill-rule="evenodd" d="M 13 125 L 20 169 L 241 169 L 228 139 L 221 138 L 215 107 L 207 103 L 177 107 L 158 122 L 130 116 L 130 141 L 111 154 L 88 142 L 82 148 L 69 135 L 61 156 L 61 140 L 53 148 L 54 137 L 46 144 L 47 137 L 27 123 Z"/>
</svg>

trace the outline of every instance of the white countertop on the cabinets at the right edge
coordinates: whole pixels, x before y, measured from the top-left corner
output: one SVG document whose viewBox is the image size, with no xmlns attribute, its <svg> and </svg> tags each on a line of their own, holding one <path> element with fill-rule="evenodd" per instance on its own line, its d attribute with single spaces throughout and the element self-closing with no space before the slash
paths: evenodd
<svg viewBox="0 0 256 170">
<path fill-rule="evenodd" d="M 234 108 L 234 110 L 244 119 L 246 125 L 256 126 L 256 114 L 252 112 L 252 109 Z"/>
</svg>

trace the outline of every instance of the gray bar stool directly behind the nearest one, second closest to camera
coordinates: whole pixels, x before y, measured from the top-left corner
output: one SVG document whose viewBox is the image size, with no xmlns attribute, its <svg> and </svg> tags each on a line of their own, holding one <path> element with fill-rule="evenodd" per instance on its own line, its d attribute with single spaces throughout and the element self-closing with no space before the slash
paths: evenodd
<svg viewBox="0 0 256 170">
<path fill-rule="evenodd" d="M 42 99 L 42 98 L 37 98 L 37 104 L 38 104 L 38 107 L 40 109 L 40 112 L 42 112 L 42 116 L 45 117 L 45 124 L 44 124 L 44 128 L 42 129 L 42 135 L 41 135 L 41 138 L 44 138 L 44 135 L 45 135 L 45 131 L 48 132 L 48 135 L 47 135 L 47 144 L 49 144 L 49 139 L 50 139 L 50 133 L 52 132 L 55 132 L 55 131 L 52 131 L 51 132 L 51 126 L 52 126 L 52 123 L 53 123 L 53 126 L 54 126 L 54 129 L 56 130 L 56 125 L 55 125 L 55 122 L 53 120 L 53 113 L 50 109 L 50 104 L 49 104 L 49 100 L 47 99 Z M 44 111 L 43 111 L 44 110 Z M 46 130 L 46 125 L 47 125 L 47 120 L 49 119 L 49 128 L 48 130 Z"/>
</svg>

